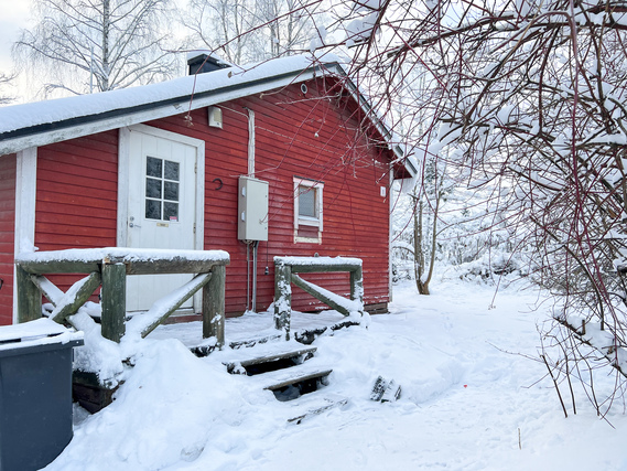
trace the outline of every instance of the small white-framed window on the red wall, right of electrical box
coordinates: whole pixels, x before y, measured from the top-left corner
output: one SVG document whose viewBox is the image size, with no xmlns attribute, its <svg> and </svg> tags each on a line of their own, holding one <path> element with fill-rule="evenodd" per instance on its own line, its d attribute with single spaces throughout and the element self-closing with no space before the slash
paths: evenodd
<svg viewBox="0 0 627 471">
<path fill-rule="evenodd" d="M 294 176 L 294 242 L 322 243 L 324 183 Z"/>
</svg>

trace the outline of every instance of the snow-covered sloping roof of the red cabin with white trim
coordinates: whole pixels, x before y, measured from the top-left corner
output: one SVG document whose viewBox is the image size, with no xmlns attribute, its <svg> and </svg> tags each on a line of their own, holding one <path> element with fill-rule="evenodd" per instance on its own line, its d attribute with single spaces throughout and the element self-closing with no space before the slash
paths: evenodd
<svg viewBox="0 0 627 471">
<path fill-rule="evenodd" d="M 320 75 L 346 77 L 336 57 L 327 56 L 321 62 L 306 54 L 159 84 L 2 107 L 0 156 L 180 115 L 188 109 L 255 95 Z M 363 94 L 350 81 L 347 84 L 381 135 L 390 138 L 391 133 L 370 110 Z"/>
</svg>

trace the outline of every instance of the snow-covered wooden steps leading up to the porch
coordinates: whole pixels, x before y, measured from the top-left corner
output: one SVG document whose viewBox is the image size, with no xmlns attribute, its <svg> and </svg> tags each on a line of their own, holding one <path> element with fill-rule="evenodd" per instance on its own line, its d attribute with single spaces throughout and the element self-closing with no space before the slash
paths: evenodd
<svg viewBox="0 0 627 471">
<path fill-rule="evenodd" d="M 263 344 L 234 351 L 233 361 L 224 364 L 229 373 L 248 375 L 259 390 L 271 390 L 278 400 L 292 402 L 288 420 L 300 424 L 311 415 L 347 403 L 345 398 L 318 392 L 328 385 L 333 368 L 307 362 L 316 350 L 294 343 Z M 314 392 L 318 393 L 310 394 Z"/>
</svg>

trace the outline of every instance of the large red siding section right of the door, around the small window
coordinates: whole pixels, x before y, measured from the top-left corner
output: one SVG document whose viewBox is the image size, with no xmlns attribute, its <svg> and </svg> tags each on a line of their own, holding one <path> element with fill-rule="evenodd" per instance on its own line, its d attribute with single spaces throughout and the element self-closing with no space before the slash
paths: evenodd
<svg viewBox="0 0 627 471">
<path fill-rule="evenodd" d="M 269 240 L 259 245 L 258 310 L 272 302 L 272 260 L 283 255 L 363 258 L 366 302 L 389 301 L 389 202 L 380 196 L 380 186 L 389 182 L 389 153 L 366 140 L 346 101 L 325 97 L 325 90 L 318 89 L 322 83 L 307 85 L 306 95 L 293 85 L 221 104 L 223 129 L 207 126 L 206 109 L 192 113 L 192 127 L 184 116 L 149 122 L 206 142 L 205 248 L 225 249 L 231 256 L 227 312 L 246 309 L 246 245 L 237 240 L 237 182 L 248 172 L 246 108 L 256 114 L 256 178 L 270 182 Z M 324 182 L 322 244 L 294 244 L 294 176 Z M 220 190 L 213 182 L 216 178 L 223 182 Z M 269 275 L 263 274 L 266 266 Z M 348 295 L 347 275 L 305 278 Z M 320 303 L 294 289 L 293 306 L 311 310 Z"/>
</svg>

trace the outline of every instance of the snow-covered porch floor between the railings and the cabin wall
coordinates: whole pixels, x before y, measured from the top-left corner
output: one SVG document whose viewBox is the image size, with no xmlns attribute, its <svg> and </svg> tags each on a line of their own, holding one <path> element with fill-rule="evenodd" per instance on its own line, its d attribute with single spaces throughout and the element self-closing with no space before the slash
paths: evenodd
<svg viewBox="0 0 627 471">
<path fill-rule="evenodd" d="M 320 313 L 294 311 L 292 312 L 291 331 L 300 342 L 311 343 L 315 334 L 350 323 L 350 319 L 337 311 Z M 282 336 L 281 331 L 274 329 L 272 312 L 247 312 L 238 318 L 226 319 L 225 345 L 230 347 L 251 346 L 273 339 L 279 340 L 280 336 Z M 162 324 L 150 333 L 148 339 L 179 339 L 188 349 L 207 345 L 207 339 L 203 339 L 201 321 Z"/>
</svg>

